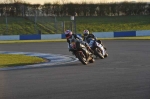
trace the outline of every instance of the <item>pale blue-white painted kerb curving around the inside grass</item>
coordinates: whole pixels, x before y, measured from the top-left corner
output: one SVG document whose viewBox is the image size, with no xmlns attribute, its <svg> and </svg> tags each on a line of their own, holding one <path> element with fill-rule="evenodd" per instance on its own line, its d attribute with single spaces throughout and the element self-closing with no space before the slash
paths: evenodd
<svg viewBox="0 0 150 99">
<path fill-rule="evenodd" d="M 45 53 L 34 53 L 34 52 L 12 52 L 12 51 L 0 51 L 0 54 L 23 54 L 27 56 L 36 56 L 40 58 L 47 59 L 48 62 L 33 64 L 33 65 L 24 65 L 24 66 L 16 66 L 16 67 L 6 67 L 0 68 L 0 70 L 14 70 L 14 69 L 27 69 L 27 68 L 37 68 L 37 67 L 46 67 L 52 65 L 60 65 L 66 63 L 72 63 L 77 61 L 75 57 L 61 55 L 61 54 L 45 54 Z"/>
</svg>

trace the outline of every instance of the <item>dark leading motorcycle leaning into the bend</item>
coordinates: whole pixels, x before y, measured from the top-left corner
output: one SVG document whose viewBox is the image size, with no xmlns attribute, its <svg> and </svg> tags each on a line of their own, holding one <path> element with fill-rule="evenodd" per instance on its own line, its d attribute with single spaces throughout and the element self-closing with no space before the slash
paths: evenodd
<svg viewBox="0 0 150 99">
<path fill-rule="evenodd" d="M 73 39 L 70 46 L 72 48 L 71 51 L 82 64 L 87 65 L 95 61 L 92 53 L 80 41 Z"/>
</svg>

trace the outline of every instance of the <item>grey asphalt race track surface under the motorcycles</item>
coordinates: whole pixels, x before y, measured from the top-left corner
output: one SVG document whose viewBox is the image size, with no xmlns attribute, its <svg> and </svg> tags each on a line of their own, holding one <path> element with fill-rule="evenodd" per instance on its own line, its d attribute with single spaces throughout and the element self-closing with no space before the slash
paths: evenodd
<svg viewBox="0 0 150 99">
<path fill-rule="evenodd" d="M 150 99 L 150 40 L 103 40 L 106 59 L 0 71 L 0 99 Z M 1 51 L 71 55 L 66 42 L 0 44 Z"/>
</svg>

